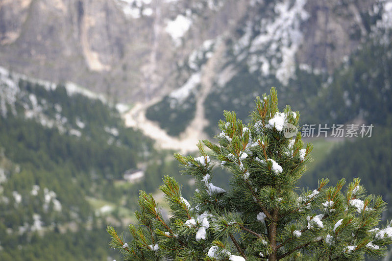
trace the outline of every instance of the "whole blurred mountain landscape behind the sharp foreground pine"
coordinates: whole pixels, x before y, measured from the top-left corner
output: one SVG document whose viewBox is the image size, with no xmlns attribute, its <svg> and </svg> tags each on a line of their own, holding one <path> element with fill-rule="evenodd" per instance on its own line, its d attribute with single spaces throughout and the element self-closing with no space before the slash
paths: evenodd
<svg viewBox="0 0 392 261">
<path fill-rule="evenodd" d="M 271 86 L 302 123 L 374 125 L 310 139 L 301 185 L 391 202 L 391 29 L 389 0 L 0 0 L 0 260 L 119 260 L 106 225 L 164 174 L 190 197 L 172 153 Z"/>
</svg>

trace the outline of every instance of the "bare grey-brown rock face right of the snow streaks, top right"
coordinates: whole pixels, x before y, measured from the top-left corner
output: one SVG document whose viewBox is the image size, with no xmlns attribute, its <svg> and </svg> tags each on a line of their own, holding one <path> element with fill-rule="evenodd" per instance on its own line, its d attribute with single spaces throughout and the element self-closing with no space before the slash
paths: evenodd
<svg viewBox="0 0 392 261">
<path fill-rule="evenodd" d="M 309 19 L 302 24 L 304 43 L 297 57 L 300 63 L 332 71 L 369 33 L 372 1 L 308 1 Z"/>
</svg>

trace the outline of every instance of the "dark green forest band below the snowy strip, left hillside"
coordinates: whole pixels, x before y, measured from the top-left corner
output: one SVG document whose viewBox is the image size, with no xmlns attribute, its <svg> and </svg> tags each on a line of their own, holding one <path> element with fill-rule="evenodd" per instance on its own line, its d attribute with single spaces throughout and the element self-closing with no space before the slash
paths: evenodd
<svg viewBox="0 0 392 261">
<path fill-rule="evenodd" d="M 141 144 L 138 144 L 135 138 L 132 139 L 135 145 L 141 148 Z M 73 165 L 76 171 L 94 170 L 97 175 L 103 177 L 120 178 L 123 171 L 135 167 L 139 160 L 138 147 L 133 150 L 130 147 L 109 145 L 102 138 L 75 139 L 60 134 L 55 128 L 44 128 L 34 120 L 21 118 L 9 117 L 2 122 L 0 144 L 14 162 L 30 163 L 38 168 L 46 166 L 51 169 L 54 169 L 53 165 L 69 164 Z"/>
</svg>

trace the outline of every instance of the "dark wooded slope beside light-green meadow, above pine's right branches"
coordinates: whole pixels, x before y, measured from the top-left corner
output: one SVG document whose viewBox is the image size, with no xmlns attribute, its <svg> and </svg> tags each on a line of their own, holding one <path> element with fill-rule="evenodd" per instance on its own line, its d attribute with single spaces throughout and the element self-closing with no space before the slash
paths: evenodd
<svg viewBox="0 0 392 261">
<path fill-rule="evenodd" d="M 392 131 L 379 125 L 373 129 L 372 137 L 348 140 L 333 149 L 313 168 L 309 174 L 313 179 L 302 180 L 301 184 L 315 186 L 320 177 L 329 177 L 331 182 L 359 177 L 370 193 L 391 202 Z"/>
</svg>

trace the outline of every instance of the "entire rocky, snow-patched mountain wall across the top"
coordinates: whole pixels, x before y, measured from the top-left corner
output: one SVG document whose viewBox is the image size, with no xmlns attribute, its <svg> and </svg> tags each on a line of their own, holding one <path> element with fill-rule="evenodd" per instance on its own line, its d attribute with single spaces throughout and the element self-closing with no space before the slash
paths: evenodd
<svg viewBox="0 0 392 261">
<path fill-rule="evenodd" d="M 130 122 L 146 119 L 139 126 L 181 142 L 215 134 L 224 109 L 247 117 L 270 86 L 294 109 L 312 106 L 369 38 L 388 38 L 380 32 L 391 9 L 368 0 L 3 1 L 0 65 L 136 105 Z"/>
</svg>

